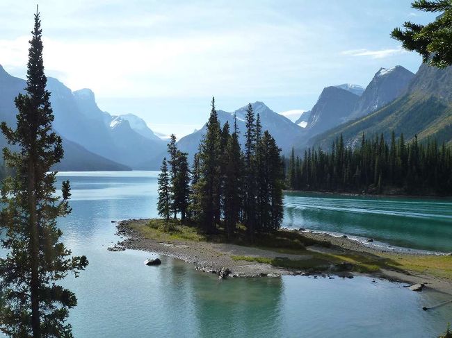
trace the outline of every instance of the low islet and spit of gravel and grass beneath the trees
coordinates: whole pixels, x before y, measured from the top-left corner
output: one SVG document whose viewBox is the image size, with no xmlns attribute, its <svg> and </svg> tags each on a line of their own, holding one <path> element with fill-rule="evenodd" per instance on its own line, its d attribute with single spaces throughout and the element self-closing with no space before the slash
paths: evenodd
<svg viewBox="0 0 452 338">
<path fill-rule="evenodd" d="M 226 240 L 223 234 L 206 236 L 191 226 L 170 220 L 129 219 L 117 224 L 122 241 L 108 248 L 148 251 L 194 264 L 195 269 L 221 277 L 353 278 L 369 276 L 408 285 L 423 285 L 452 295 L 452 256 L 394 252 L 364 245 L 345 235 L 282 229 L 261 234 L 250 244 L 243 234 Z M 239 231 L 240 233 L 240 231 Z M 375 280 L 373 280 L 375 282 Z"/>
</svg>

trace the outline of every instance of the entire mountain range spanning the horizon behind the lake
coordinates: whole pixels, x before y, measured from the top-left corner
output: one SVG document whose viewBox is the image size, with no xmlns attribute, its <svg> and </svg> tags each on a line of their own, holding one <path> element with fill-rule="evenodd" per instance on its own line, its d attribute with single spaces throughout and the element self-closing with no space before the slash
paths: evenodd
<svg viewBox="0 0 452 338">
<path fill-rule="evenodd" d="M 294 146 L 302 153 L 307 146 L 328 149 L 340 134 L 349 146 L 362 133 L 383 133 L 389 137 L 404 133 L 410 140 L 435 137 L 452 143 L 452 69 L 421 65 L 417 74 L 396 66 L 381 68 L 369 85 L 344 83 L 325 87 L 314 107 L 302 112 L 294 123 L 268 108 L 263 102 L 252 103 L 259 113 L 263 130 L 268 130 L 284 153 Z M 10 76 L 0 65 L 0 120 L 15 126 L 14 98 L 23 92 L 26 82 Z M 48 78 L 54 110 L 54 130 L 61 135 L 65 158 L 59 170 L 129 170 L 158 169 L 166 154 L 166 142 L 140 117 L 133 114 L 111 115 L 97 106 L 89 89 L 72 91 L 56 78 Z M 241 143 L 245 134 L 247 105 L 234 112 L 218 110 L 223 126 L 237 125 Z M 303 128 L 305 127 L 305 128 Z M 197 151 L 204 125 L 178 142 L 190 157 Z M 0 135 L 0 146 L 6 146 Z"/>
</svg>

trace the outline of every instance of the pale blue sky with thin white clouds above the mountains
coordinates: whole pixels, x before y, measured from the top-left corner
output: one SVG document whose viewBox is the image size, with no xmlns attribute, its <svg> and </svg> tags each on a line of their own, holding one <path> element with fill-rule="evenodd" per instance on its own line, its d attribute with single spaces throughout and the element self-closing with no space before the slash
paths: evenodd
<svg viewBox="0 0 452 338">
<path fill-rule="evenodd" d="M 40 1 L 45 67 L 111 114 L 161 133 L 200 128 L 211 96 L 232 111 L 264 101 L 309 110 L 323 87 L 366 86 L 380 67 L 417 71 L 421 58 L 389 37 L 426 23 L 407 0 Z M 0 64 L 24 77 L 35 5 L 0 3 Z"/>
</svg>

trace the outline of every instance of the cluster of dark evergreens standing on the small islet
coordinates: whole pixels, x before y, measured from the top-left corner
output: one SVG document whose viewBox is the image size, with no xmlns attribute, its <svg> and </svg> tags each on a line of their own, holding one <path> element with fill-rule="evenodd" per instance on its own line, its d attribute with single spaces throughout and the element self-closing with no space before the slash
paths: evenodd
<svg viewBox="0 0 452 338">
<path fill-rule="evenodd" d="M 243 151 L 239 129 L 218 121 L 215 100 L 199 151 L 188 168 L 187 154 L 177 149 L 172 135 L 169 160 L 163 160 L 159 174 L 161 217 L 181 215 L 205 233 L 216 233 L 218 226 L 228 237 L 239 223 L 252 240 L 255 233 L 271 232 L 282 222 L 283 161 L 273 137 L 262 132 L 260 117 L 248 105 Z"/>
</svg>

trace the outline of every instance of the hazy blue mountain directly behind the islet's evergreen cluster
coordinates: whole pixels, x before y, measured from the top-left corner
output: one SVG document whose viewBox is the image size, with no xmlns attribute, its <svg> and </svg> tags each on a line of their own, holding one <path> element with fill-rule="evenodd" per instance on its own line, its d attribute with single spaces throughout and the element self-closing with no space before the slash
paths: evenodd
<svg viewBox="0 0 452 338">
<path fill-rule="evenodd" d="M 245 135 L 245 114 L 248 105 L 236 110 L 235 112 L 225 112 L 218 110 L 218 119 L 220 125 L 223 126 L 226 121 L 229 121 L 229 125 L 234 125 L 234 115 L 237 117 L 237 126 L 240 130 L 240 141 L 243 144 Z M 293 124 L 292 121 L 286 117 L 273 112 L 262 102 L 252 103 L 252 108 L 255 115 L 259 113 L 261 118 L 262 130 L 268 130 L 275 138 L 277 145 L 285 151 L 289 152 L 294 140 L 296 140 L 303 133 L 303 128 Z M 197 152 L 198 146 L 201 142 L 202 135 L 206 133 L 206 126 L 204 125 L 200 130 L 195 133 L 182 137 L 177 145 L 181 151 L 186 151 L 191 157 Z"/>
</svg>

